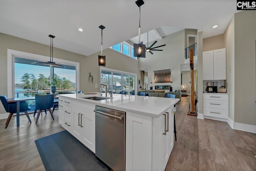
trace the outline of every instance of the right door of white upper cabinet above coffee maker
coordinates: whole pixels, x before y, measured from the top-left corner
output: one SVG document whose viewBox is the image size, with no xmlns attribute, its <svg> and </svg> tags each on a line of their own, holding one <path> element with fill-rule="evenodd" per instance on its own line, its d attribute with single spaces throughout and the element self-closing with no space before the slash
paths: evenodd
<svg viewBox="0 0 256 171">
<path fill-rule="evenodd" d="M 226 48 L 213 51 L 213 80 L 226 80 Z"/>
</svg>

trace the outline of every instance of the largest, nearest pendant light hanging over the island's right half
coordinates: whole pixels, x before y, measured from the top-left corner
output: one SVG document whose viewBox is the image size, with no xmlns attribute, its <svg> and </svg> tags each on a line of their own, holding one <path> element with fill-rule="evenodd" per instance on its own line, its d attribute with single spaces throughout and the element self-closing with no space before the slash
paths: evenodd
<svg viewBox="0 0 256 171">
<path fill-rule="evenodd" d="M 142 6 L 144 4 L 143 0 L 137 0 L 135 2 L 137 4 L 137 6 L 140 8 L 140 6 Z M 140 18 L 140 12 L 139 12 L 139 18 Z M 143 42 L 140 41 L 140 19 L 139 19 L 139 40 L 138 40 L 138 44 L 133 44 L 134 49 L 134 57 L 137 58 L 146 58 L 146 45 L 143 44 Z"/>
</svg>

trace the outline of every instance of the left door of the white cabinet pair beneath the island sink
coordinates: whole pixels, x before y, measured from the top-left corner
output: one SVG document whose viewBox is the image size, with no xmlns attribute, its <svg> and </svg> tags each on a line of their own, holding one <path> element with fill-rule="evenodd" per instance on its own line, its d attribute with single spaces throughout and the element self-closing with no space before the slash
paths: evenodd
<svg viewBox="0 0 256 171">
<path fill-rule="evenodd" d="M 82 114 L 82 111 L 72 108 L 72 115 L 73 115 L 72 135 L 74 135 L 74 137 L 76 137 L 79 141 L 81 141 L 80 139 L 82 135 L 81 114 Z"/>
</svg>

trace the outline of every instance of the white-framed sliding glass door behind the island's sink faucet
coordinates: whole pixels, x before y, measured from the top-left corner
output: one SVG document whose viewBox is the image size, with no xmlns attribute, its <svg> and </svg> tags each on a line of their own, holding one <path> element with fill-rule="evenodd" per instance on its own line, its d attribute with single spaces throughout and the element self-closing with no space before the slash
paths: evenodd
<svg viewBox="0 0 256 171">
<path fill-rule="evenodd" d="M 127 91 L 127 94 L 132 94 L 132 90 L 135 91 L 136 89 L 136 74 L 102 69 L 100 75 L 100 83 L 108 85 L 108 92 L 120 93 L 120 91 Z M 104 86 L 101 86 L 101 91 L 106 91 Z"/>
</svg>

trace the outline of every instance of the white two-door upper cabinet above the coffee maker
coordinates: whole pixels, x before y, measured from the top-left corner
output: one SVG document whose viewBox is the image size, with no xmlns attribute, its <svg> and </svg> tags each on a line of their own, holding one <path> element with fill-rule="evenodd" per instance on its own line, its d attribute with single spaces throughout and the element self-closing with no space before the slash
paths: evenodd
<svg viewBox="0 0 256 171">
<path fill-rule="evenodd" d="M 203 52 L 203 80 L 226 80 L 226 48 Z"/>
</svg>

